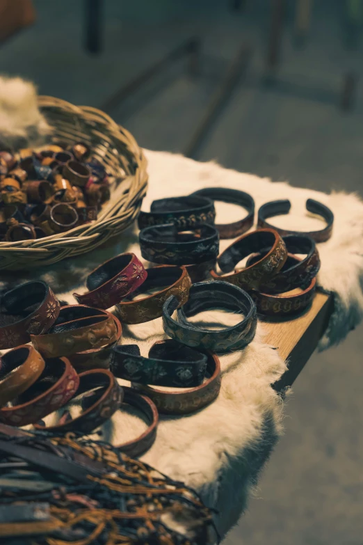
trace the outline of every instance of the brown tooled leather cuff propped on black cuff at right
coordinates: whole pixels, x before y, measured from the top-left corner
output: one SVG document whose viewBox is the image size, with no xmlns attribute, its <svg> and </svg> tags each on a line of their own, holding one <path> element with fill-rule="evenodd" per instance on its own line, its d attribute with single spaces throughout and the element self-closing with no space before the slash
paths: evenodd
<svg viewBox="0 0 363 545">
<path fill-rule="evenodd" d="M 250 267 L 238 269 L 232 274 L 224 274 L 223 276 L 218 275 L 216 271 L 211 271 L 211 277 L 240 287 L 258 288 L 261 283 L 265 283 L 277 274 L 287 260 L 285 243 L 277 231 L 260 229 L 247 233 L 228 246 L 217 260 L 221 271 L 229 273 L 241 260 L 247 258 L 251 253 L 258 253 L 266 246 L 271 250 Z"/>
</svg>

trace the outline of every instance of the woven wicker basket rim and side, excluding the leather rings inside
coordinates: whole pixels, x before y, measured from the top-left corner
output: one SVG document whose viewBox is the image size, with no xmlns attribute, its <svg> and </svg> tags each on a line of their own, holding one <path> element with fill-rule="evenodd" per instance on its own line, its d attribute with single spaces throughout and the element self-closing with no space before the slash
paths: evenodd
<svg viewBox="0 0 363 545">
<path fill-rule="evenodd" d="M 134 137 L 95 108 L 38 97 L 54 143 L 83 141 L 114 178 L 97 221 L 38 240 L 0 242 L 0 269 L 21 270 L 79 255 L 120 235 L 134 222 L 147 189 L 147 162 Z M 125 177 L 126 175 L 126 177 Z"/>
</svg>

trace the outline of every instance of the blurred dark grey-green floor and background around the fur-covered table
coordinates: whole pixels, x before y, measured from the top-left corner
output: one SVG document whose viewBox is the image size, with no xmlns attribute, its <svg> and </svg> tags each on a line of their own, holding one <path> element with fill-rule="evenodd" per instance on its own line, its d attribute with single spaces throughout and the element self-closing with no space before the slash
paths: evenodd
<svg viewBox="0 0 363 545">
<path fill-rule="evenodd" d="M 362 27 L 363 0 L 0 0 L 0 72 L 145 148 L 362 196 Z M 225 545 L 362 545 L 362 333 L 298 377 Z"/>
</svg>

